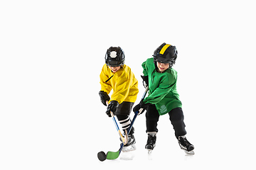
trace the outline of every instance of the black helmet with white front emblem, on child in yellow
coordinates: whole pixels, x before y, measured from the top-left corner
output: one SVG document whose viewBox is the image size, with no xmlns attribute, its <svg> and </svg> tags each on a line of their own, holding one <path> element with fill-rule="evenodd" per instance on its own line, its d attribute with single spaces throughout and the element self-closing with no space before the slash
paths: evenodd
<svg viewBox="0 0 256 170">
<path fill-rule="evenodd" d="M 110 47 L 105 55 L 105 62 L 110 67 L 119 67 L 124 64 L 124 52 L 121 47 Z"/>
</svg>

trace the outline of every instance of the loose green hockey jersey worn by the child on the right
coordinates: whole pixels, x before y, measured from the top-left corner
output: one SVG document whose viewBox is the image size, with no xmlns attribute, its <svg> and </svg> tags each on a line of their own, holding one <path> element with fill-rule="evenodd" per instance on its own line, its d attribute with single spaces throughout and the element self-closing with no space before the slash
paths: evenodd
<svg viewBox="0 0 256 170">
<path fill-rule="evenodd" d="M 154 58 L 142 63 L 144 76 L 149 76 L 149 95 L 144 103 L 156 105 L 159 115 L 169 113 L 174 108 L 181 108 L 182 103 L 176 90 L 177 72 L 167 69 L 163 73 L 156 72 Z"/>
</svg>

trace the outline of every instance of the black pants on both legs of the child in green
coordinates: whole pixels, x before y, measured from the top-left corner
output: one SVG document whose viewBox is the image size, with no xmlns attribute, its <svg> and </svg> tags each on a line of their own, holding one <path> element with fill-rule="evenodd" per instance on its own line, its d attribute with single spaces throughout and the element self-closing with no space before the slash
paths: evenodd
<svg viewBox="0 0 256 170">
<path fill-rule="evenodd" d="M 149 105 L 146 108 L 146 132 L 158 132 L 157 123 L 159 121 L 159 112 L 156 110 L 154 104 Z M 174 127 L 175 136 L 178 139 L 179 136 L 186 135 L 184 115 L 181 108 L 174 108 L 169 112 L 169 119 Z"/>
</svg>

